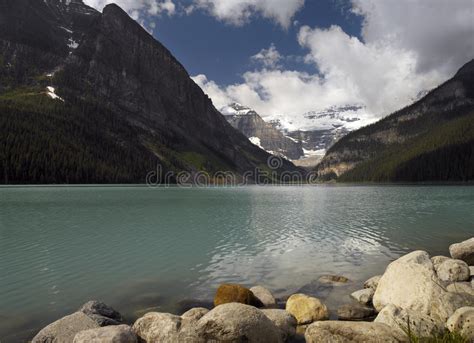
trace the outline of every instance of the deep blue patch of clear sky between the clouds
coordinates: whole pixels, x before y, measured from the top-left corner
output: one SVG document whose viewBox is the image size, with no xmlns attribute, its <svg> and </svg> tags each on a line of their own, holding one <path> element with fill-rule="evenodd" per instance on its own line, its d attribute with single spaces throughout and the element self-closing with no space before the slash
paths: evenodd
<svg viewBox="0 0 474 343">
<path fill-rule="evenodd" d="M 235 26 L 207 15 L 195 12 L 192 15 L 161 16 L 150 18 L 156 27 L 153 35 L 162 42 L 191 75 L 205 74 L 219 84 L 241 81 L 241 75 L 256 67 L 250 57 L 262 48 L 274 44 L 285 56 L 304 56 L 296 39 L 302 25 L 327 28 L 341 26 L 345 32 L 360 37 L 361 20 L 350 12 L 348 1 L 307 1 L 288 29 L 271 19 L 257 15 L 246 25 Z M 297 59 L 284 62 L 284 67 L 314 72 L 314 65 Z"/>
</svg>

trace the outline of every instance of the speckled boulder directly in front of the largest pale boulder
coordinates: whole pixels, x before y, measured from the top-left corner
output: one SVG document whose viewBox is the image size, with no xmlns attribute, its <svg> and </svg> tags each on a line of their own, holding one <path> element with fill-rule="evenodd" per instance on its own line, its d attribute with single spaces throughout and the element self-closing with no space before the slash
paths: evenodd
<svg viewBox="0 0 474 343">
<path fill-rule="evenodd" d="M 374 322 L 390 326 L 400 336 L 406 335 L 408 329 L 418 337 L 433 337 L 444 332 L 444 322 L 395 305 L 385 306 Z"/>
</svg>

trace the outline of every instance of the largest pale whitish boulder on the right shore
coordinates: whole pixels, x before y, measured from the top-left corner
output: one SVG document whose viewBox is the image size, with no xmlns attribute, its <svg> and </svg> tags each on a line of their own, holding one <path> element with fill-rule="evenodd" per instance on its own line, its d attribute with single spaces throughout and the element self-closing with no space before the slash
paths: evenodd
<svg viewBox="0 0 474 343">
<path fill-rule="evenodd" d="M 414 251 L 390 263 L 375 291 L 373 304 L 378 312 L 393 304 L 445 322 L 471 300 L 447 292 L 428 253 Z"/>
</svg>

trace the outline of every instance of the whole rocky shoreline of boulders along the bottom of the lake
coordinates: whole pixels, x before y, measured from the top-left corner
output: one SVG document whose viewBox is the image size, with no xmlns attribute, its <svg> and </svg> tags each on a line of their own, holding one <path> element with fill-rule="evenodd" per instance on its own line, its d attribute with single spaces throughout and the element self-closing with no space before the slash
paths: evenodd
<svg viewBox="0 0 474 343">
<path fill-rule="evenodd" d="M 132 325 L 111 307 L 90 301 L 32 342 L 474 342 L 474 238 L 449 251 L 450 257 L 414 251 L 393 261 L 351 294 L 354 302 L 338 308 L 338 320 L 329 320 L 327 306 L 310 295 L 292 294 L 282 309 L 262 286 L 223 284 L 211 310 L 149 312 Z M 320 281 L 349 280 L 328 275 Z"/>
</svg>

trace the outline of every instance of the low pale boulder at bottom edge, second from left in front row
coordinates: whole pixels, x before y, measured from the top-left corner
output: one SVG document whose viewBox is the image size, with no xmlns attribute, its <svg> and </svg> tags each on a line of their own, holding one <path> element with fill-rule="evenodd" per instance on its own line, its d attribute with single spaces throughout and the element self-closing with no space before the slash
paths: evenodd
<svg viewBox="0 0 474 343">
<path fill-rule="evenodd" d="M 128 325 L 105 326 L 80 331 L 73 343 L 137 343 L 137 335 Z"/>
</svg>

